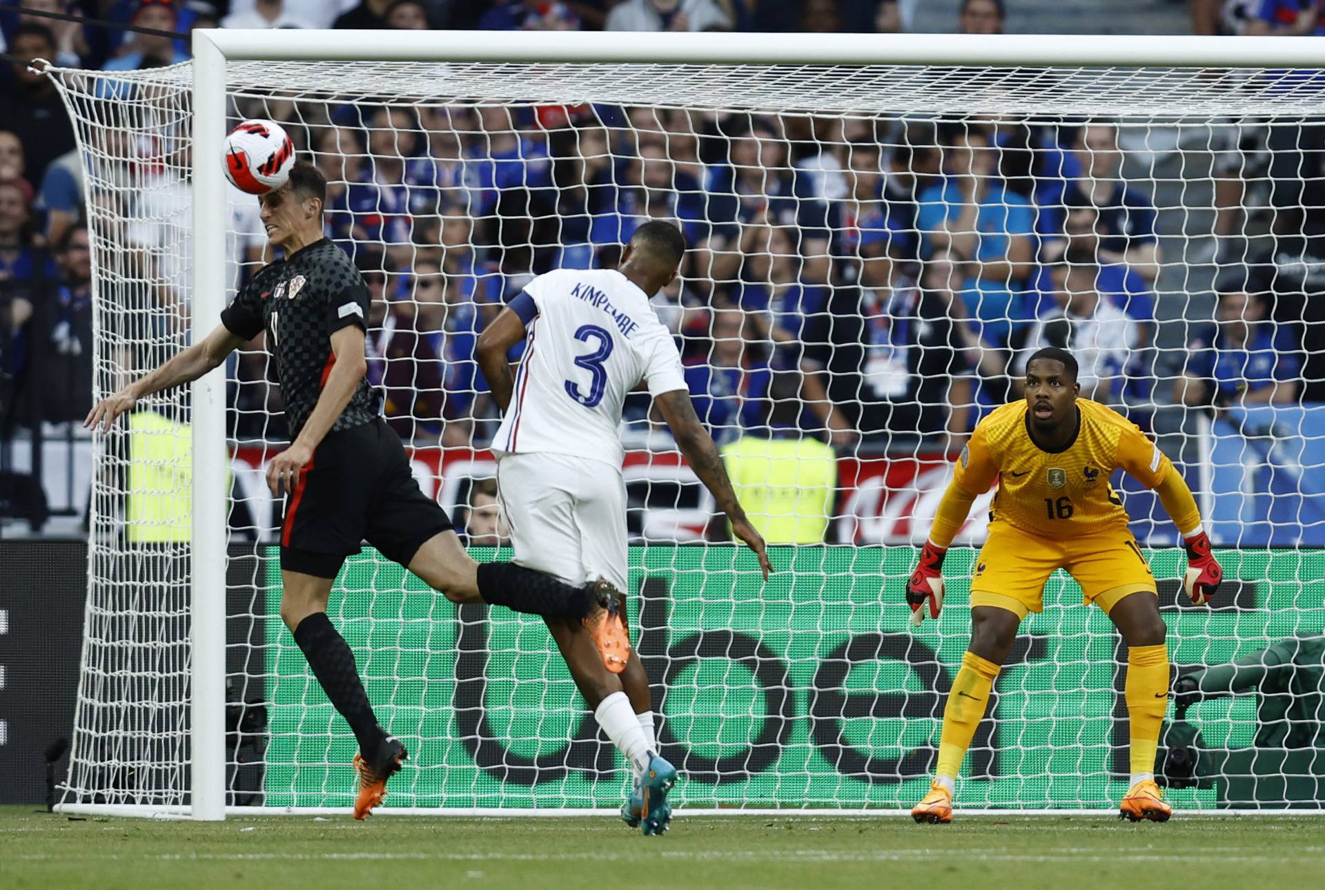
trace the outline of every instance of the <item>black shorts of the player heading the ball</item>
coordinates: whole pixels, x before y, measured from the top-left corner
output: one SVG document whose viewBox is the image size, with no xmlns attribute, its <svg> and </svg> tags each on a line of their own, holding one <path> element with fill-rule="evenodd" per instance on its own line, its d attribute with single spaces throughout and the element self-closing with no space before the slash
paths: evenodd
<svg viewBox="0 0 1325 890">
<path fill-rule="evenodd" d="M 424 541 L 452 529 L 419 489 L 400 436 L 382 418 L 329 432 L 285 499 L 281 568 L 334 578 L 363 541 L 409 565 Z"/>
</svg>

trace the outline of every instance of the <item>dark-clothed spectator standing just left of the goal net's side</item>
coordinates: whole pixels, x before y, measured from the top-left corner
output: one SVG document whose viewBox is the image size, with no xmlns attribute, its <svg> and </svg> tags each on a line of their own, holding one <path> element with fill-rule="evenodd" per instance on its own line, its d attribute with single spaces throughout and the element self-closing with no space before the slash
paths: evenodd
<svg viewBox="0 0 1325 890">
<path fill-rule="evenodd" d="M 91 410 L 91 241 L 85 225 L 58 245 L 61 283 L 42 358 L 42 410 L 52 423 L 82 420 Z"/>
</svg>

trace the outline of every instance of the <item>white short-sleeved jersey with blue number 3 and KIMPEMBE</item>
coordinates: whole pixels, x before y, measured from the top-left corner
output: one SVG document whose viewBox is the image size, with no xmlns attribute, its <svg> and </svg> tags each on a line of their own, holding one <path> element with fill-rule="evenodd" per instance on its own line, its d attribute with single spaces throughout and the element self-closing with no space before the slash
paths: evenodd
<svg viewBox="0 0 1325 890">
<path fill-rule="evenodd" d="M 615 269 L 559 269 L 525 285 L 529 322 L 515 393 L 493 451 L 545 451 L 621 466 L 627 394 L 686 389 L 681 354 L 649 296 Z"/>
</svg>

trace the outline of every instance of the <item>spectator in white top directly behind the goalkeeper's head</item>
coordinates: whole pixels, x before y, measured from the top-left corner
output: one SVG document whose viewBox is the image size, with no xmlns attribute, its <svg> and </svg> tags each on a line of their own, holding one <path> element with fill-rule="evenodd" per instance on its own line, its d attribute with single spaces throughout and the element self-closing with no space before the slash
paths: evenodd
<svg viewBox="0 0 1325 890">
<path fill-rule="evenodd" d="M 1100 296 L 1097 267 L 1089 256 L 1068 255 L 1052 268 L 1055 306 L 1035 320 L 1012 366 L 1018 393 L 1026 361 L 1036 349 L 1057 346 L 1076 355 L 1081 370 L 1081 398 L 1117 403 L 1122 397 L 1124 369 L 1137 348 L 1137 325 Z"/>
</svg>

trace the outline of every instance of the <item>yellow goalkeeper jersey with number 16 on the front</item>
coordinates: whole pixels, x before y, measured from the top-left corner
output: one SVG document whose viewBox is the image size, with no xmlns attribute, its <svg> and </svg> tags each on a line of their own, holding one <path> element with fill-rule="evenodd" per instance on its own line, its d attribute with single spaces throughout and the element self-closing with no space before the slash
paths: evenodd
<svg viewBox="0 0 1325 890">
<path fill-rule="evenodd" d="M 957 462 L 955 480 L 980 493 L 998 479 L 990 519 L 1034 535 L 1069 539 L 1126 527 L 1128 512 L 1109 484 L 1124 470 L 1146 488 L 1169 474 L 1169 458 L 1113 409 L 1077 399 L 1077 430 L 1061 451 L 1031 439 L 1026 402 L 995 409 L 975 424 Z"/>
</svg>

